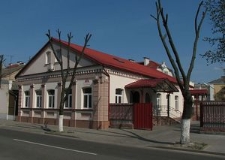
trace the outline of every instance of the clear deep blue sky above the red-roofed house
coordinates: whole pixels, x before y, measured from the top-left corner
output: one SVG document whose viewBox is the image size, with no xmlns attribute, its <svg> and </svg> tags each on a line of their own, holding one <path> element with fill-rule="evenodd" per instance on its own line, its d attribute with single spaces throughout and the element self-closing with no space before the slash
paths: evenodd
<svg viewBox="0 0 225 160">
<path fill-rule="evenodd" d="M 199 0 L 162 0 L 169 14 L 169 26 L 187 69 L 194 41 L 194 17 Z M 83 44 L 92 34 L 90 48 L 126 59 L 142 61 L 143 57 L 170 63 L 159 39 L 154 0 L 5 0 L 0 5 L 0 54 L 5 64 L 27 62 L 47 42 L 50 29 L 62 31 L 62 38 L 72 32 L 73 43 Z M 205 19 L 198 46 L 198 55 L 191 80 L 209 82 L 223 75 L 223 64 L 207 65 L 199 54 L 210 49 L 203 37 L 211 35 L 210 21 Z"/>
</svg>

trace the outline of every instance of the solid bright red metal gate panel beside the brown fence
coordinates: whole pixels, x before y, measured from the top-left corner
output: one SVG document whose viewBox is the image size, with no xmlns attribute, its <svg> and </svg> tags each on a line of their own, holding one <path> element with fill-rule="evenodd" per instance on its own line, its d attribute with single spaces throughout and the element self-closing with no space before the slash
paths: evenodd
<svg viewBox="0 0 225 160">
<path fill-rule="evenodd" d="M 135 129 L 152 130 L 152 104 L 136 103 L 133 108 L 133 124 Z"/>
</svg>

